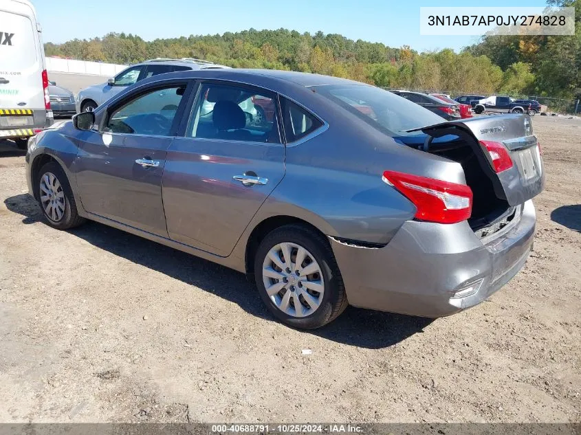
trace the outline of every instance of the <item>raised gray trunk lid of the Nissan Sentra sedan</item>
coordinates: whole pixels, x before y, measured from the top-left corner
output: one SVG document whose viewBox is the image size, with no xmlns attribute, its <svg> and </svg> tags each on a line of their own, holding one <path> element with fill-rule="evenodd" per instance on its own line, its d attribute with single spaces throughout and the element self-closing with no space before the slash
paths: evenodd
<svg viewBox="0 0 581 435">
<path fill-rule="evenodd" d="M 439 146 L 442 141 L 433 142 L 433 140 L 446 135 L 452 135 L 470 143 L 481 168 L 492 181 L 496 197 L 506 200 L 509 205 L 522 204 L 542 191 L 545 174 L 538 140 L 533 134 L 529 115 L 471 118 L 443 122 L 408 132 L 411 131 L 422 131 L 430 136 L 424 145 L 424 150 L 428 150 L 431 146 Z M 399 139 L 405 142 L 405 137 L 399 137 Z M 512 160 L 512 167 L 495 172 L 490 153 L 479 141 L 502 144 Z"/>
</svg>

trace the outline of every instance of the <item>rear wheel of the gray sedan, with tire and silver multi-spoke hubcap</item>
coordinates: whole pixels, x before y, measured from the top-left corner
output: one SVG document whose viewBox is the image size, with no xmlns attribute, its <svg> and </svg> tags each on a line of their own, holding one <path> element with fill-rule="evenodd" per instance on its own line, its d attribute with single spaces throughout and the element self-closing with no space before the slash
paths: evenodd
<svg viewBox="0 0 581 435">
<path fill-rule="evenodd" d="M 295 328 L 319 328 L 348 304 L 329 243 L 301 225 L 285 225 L 263 239 L 254 258 L 254 276 L 270 312 Z"/>
</svg>

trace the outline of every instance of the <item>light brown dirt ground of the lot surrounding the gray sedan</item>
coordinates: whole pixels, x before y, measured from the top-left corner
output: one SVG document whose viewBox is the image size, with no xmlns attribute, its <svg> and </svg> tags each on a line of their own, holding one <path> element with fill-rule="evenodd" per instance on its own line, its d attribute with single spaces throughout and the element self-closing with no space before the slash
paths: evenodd
<svg viewBox="0 0 581 435">
<path fill-rule="evenodd" d="M 581 120 L 533 124 L 547 185 L 514 280 L 452 317 L 349 308 L 314 332 L 237 272 L 52 230 L 0 143 L 0 421 L 581 421 Z"/>
</svg>

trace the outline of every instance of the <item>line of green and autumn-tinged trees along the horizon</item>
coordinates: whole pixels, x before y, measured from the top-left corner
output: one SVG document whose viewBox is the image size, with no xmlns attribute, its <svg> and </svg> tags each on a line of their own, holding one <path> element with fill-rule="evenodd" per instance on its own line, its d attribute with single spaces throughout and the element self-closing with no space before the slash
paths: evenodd
<svg viewBox="0 0 581 435">
<path fill-rule="evenodd" d="M 288 69 L 351 78 L 380 87 L 450 93 L 581 95 L 581 0 L 574 5 L 574 36 L 485 36 L 460 53 L 418 53 L 410 47 L 353 41 L 340 34 L 244 30 L 144 41 L 109 33 L 102 38 L 46 43 L 47 56 L 131 64 L 164 58 L 201 58 L 243 68 Z"/>
</svg>

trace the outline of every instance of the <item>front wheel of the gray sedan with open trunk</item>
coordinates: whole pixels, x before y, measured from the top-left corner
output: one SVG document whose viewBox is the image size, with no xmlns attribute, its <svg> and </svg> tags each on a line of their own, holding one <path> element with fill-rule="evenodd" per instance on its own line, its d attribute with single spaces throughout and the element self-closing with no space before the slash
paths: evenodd
<svg viewBox="0 0 581 435">
<path fill-rule="evenodd" d="M 36 198 L 48 225 L 57 230 L 69 230 L 85 222 L 85 218 L 78 215 L 67 175 L 56 161 L 43 165 L 35 186 Z"/>
</svg>

